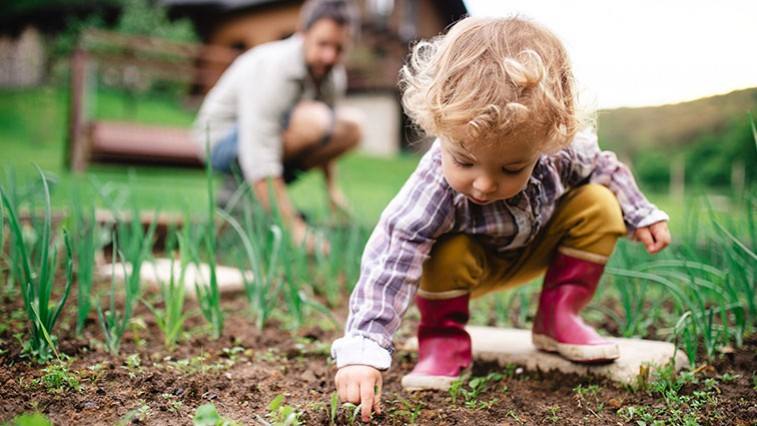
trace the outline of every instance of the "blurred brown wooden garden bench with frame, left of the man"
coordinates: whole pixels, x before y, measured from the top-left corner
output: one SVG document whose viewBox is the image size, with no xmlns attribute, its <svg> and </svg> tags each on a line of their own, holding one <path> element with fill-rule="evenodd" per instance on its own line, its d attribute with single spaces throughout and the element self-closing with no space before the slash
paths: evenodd
<svg viewBox="0 0 757 426">
<path fill-rule="evenodd" d="M 75 172 L 90 163 L 129 163 L 201 167 L 198 148 L 188 128 L 154 126 L 87 117 L 88 81 L 107 68 L 125 84 L 156 81 L 182 84 L 197 101 L 239 54 L 220 46 L 168 42 L 150 37 L 87 31 L 71 59 L 67 161 Z M 95 71 L 95 72 L 93 72 Z M 199 103 L 199 102 L 194 102 Z"/>
</svg>

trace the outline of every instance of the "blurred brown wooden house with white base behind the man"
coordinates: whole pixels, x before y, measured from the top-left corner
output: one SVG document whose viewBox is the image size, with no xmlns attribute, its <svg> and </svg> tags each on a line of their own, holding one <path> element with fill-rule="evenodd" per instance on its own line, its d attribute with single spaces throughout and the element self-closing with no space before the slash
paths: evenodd
<svg viewBox="0 0 757 426">
<path fill-rule="evenodd" d="M 279 40 L 297 29 L 302 0 L 159 0 L 172 18 L 194 22 L 203 43 L 241 50 Z M 347 58 L 349 105 L 362 109 L 363 149 L 390 155 L 417 137 L 397 90 L 408 46 L 433 37 L 465 16 L 462 0 L 355 0 L 361 30 Z M 220 74 L 219 70 L 219 74 Z"/>
</svg>

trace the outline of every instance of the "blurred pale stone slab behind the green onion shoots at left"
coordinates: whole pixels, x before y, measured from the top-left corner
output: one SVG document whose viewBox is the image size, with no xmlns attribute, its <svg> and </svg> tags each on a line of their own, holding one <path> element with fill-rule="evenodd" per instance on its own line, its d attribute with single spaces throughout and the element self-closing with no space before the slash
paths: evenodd
<svg viewBox="0 0 757 426">
<path fill-rule="evenodd" d="M 126 272 L 131 272 L 131 265 L 128 263 L 116 263 L 115 269 L 110 263 L 97 267 L 97 274 L 100 278 L 111 279 L 114 275 L 117 280 L 124 280 L 124 268 Z M 181 264 L 174 262 L 174 279 L 178 280 L 181 272 Z M 245 271 L 247 277 L 251 278 L 252 272 Z M 171 279 L 171 259 L 158 258 L 142 264 L 140 270 L 142 285 L 148 288 L 158 289 L 161 283 L 168 283 Z M 236 293 L 244 290 L 244 281 L 242 272 L 237 268 L 216 265 L 216 281 L 218 290 L 221 293 Z M 195 298 L 195 283 L 207 287 L 210 283 L 210 267 L 206 263 L 189 264 L 184 273 L 184 288 L 186 296 Z"/>
</svg>

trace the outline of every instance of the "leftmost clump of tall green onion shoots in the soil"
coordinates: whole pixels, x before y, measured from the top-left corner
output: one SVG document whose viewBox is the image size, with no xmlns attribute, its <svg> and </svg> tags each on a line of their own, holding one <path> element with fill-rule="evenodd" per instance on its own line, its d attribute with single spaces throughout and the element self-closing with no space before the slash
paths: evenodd
<svg viewBox="0 0 757 426">
<path fill-rule="evenodd" d="M 39 362 L 49 361 L 53 355 L 59 358 L 56 349 L 56 339 L 53 328 L 68 300 L 73 283 L 73 253 L 71 240 L 66 232 L 63 234 L 65 244 L 65 287 L 63 295 L 57 304 L 51 304 L 51 293 L 58 270 L 57 245 L 52 237 L 52 217 L 50 207 L 50 189 L 47 178 L 42 170 L 37 167 L 37 172 L 42 179 L 44 195 L 44 220 L 41 225 L 39 252 L 36 256 L 36 267 L 33 259 L 34 253 L 27 247 L 24 233 L 16 213 L 16 206 L 6 195 L 5 190 L 0 188 L 2 204 L 8 215 L 8 223 L 12 236 L 10 250 L 11 271 L 16 281 L 21 284 L 21 293 L 24 300 L 24 310 L 29 320 L 30 337 L 24 344 L 24 353 Z"/>
</svg>

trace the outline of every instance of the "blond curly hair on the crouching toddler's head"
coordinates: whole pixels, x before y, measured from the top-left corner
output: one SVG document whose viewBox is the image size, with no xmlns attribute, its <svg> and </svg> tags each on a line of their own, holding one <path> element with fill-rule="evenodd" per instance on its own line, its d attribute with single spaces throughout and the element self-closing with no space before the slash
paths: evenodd
<svg viewBox="0 0 757 426">
<path fill-rule="evenodd" d="M 519 17 L 457 22 L 417 43 L 400 71 L 402 104 L 427 134 L 497 141 L 529 128 L 543 152 L 570 143 L 585 125 L 562 43 Z"/>
</svg>

